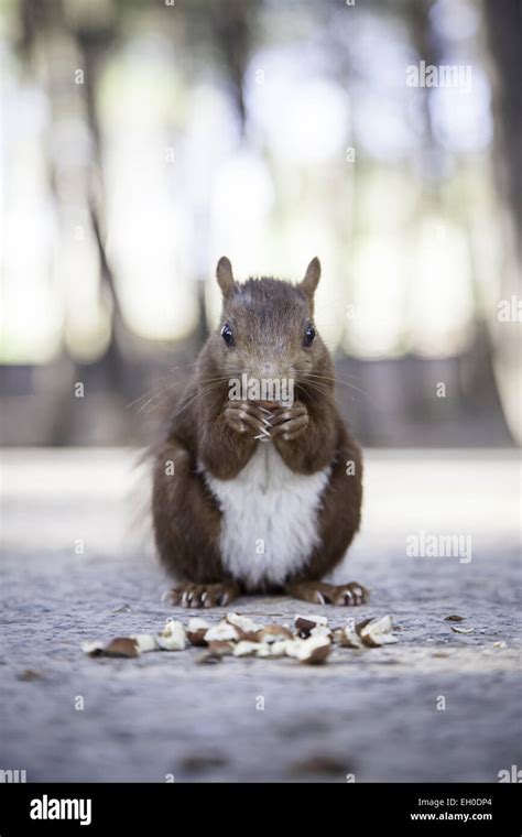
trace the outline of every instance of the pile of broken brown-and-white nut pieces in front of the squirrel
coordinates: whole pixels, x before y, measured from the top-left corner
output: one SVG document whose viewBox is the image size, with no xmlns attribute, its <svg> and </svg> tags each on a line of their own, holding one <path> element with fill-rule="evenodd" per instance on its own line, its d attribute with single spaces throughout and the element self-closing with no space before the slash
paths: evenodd
<svg viewBox="0 0 522 837">
<path fill-rule="evenodd" d="M 149 651 L 184 651 L 191 645 L 204 649 L 196 657 L 199 663 L 220 662 L 224 656 L 255 656 L 275 660 L 289 656 L 300 663 L 325 663 L 336 644 L 363 650 L 398 642 L 389 616 L 365 619 L 357 624 L 351 619 L 345 627 L 330 628 L 325 616 L 300 616 L 294 627 L 258 624 L 240 613 L 227 613 L 216 624 L 194 617 L 186 627 L 167 619 L 157 634 L 137 633 L 118 637 L 109 643 L 89 641 L 81 648 L 89 656 L 135 657 Z"/>
</svg>

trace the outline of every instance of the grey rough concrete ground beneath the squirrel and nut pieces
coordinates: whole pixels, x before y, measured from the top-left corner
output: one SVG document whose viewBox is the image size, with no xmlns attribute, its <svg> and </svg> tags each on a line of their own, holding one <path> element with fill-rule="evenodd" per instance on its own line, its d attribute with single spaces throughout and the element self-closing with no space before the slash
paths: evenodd
<svg viewBox="0 0 522 837">
<path fill-rule="evenodd" d="M 155 632 L 173 613 L 150 533 L 129 523 L 142 517 L 143 477 L 134 490 L 126 450 L 2 459 L 0 769 L 30 782 L 496 782 L 522 767 L 515 454 L 367 455 L 365 525 L 337 577 L 372 588 L 357 617 L 390 613 L 400 642 L 339 649 L 322 667 L 197 665 L 192 649 L 85 656 L 85 639 Z M 470 548 L 409 556 L 421 530 L 469 535 Z M 270 597 L 233 609 L 267 622 L 317 611 Z M 354 613 L 324 612 L 334 624 Z M 472 633 L 454 633 L 453 613 Z"/>
</svg>

